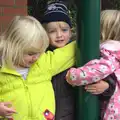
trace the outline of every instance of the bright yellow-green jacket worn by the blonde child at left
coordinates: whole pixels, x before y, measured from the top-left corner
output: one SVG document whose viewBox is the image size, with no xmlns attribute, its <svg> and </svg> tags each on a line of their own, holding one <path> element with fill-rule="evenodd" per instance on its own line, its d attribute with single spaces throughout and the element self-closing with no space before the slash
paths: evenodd
<svg viewBox="0 0 120 120">
<path fill-rule="evenodd" d="M 55 114 L 52 76 L 75 64 L 75 42 L 43 53 L 29 68 L 26 80 L 15 70 L 0 69 L 0 102 L 12 102 L 14 120 L 47 120 Z M 52 120 L 52 119 L 51 119 Z"/>
</svg>

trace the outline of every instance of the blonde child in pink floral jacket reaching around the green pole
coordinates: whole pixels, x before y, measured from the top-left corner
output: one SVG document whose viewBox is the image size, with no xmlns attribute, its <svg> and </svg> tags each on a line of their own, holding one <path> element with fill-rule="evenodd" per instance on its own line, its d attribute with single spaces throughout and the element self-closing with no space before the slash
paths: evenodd
<svg viewBox="0 0 120 120">
<path fill-rule="evenodd" d="M 109 103 L 103 103 L 102 120 L 120 120 L 120 11 L 104 10 L 101 13 L 101 40 L 101 58 L 91 60 L 82 67 L 71 68 L 66 79 L 73 86 L 81 86 L 114 73 L 117 81 L 115 92 Z"/>
</svg>

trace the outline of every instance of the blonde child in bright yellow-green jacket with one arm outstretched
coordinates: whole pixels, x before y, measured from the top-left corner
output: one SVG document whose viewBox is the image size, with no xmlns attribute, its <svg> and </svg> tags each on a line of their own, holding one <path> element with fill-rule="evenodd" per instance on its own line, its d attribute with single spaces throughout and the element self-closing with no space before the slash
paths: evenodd
<svg viewBox="0 0 120 120">
<path fill-rule="evenodd" d="M 16 16 L 2 34 L 0 116 L 54 120 L 51 78 L 75 64 L 75 42 L 45 53 L 48 45 L 44 28 L 31 16 Z"/>
</svg>

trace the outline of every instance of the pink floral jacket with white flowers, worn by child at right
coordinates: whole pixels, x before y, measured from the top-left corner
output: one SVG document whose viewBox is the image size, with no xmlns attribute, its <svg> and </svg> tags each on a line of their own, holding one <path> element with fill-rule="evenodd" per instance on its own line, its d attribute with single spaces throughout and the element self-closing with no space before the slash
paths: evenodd
<svg viewBox="0 0 120 120">
<path fill-rule="evenodd" d="M 120 120 L 120 42 L 108 40 L 100 45 L 101 58 L 89 61 L 83 67 L 71 68 L 67 82 L 74 86 L 87 85 L 114 73 L 115 92 L 109 100 L 103 120 Z"/>
</svg>

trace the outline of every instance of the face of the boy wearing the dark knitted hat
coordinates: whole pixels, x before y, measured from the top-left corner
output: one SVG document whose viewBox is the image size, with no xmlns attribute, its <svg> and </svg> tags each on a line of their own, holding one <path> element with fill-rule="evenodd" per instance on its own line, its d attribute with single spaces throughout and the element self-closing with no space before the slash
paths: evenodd
<svg viewBox="0 0 120 120">
<path fill-rule="evenodd" d="M 70 26 L 65 22 L 50 22 L 46 25 L 50 45 L 59 48 L 65 46 L 71 38 Z"/>
</svg>

